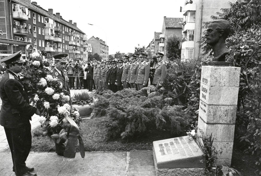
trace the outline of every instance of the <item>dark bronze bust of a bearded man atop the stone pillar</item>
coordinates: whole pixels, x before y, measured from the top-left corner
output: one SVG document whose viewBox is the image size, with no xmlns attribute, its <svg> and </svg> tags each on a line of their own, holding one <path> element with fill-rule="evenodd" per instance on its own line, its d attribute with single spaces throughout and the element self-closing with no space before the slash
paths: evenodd
<svg viewBox="0 0 261 176">
<path fill-rule="evenodd" d="M 212 61 L 225 62 L 228 49 L 225 45 L 226 38 L 230 32 L 230 25 L 227 20 L 217 19 L 211 21 L 207 26 L 205 34 L 206 43 L 209 44 L 214 52 Z"/>
</svg>

